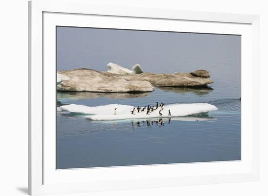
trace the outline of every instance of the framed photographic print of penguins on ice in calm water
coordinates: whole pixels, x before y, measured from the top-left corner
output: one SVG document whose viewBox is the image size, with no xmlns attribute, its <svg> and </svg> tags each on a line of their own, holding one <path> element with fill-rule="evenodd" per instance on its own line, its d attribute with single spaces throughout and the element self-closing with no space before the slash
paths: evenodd
<svg viewBox="0 0 268 196">
<path fill-rule="evenodd" d="M 56 32 L 56 169 L 241 160 L 240 35 Z"/>
</svg>

